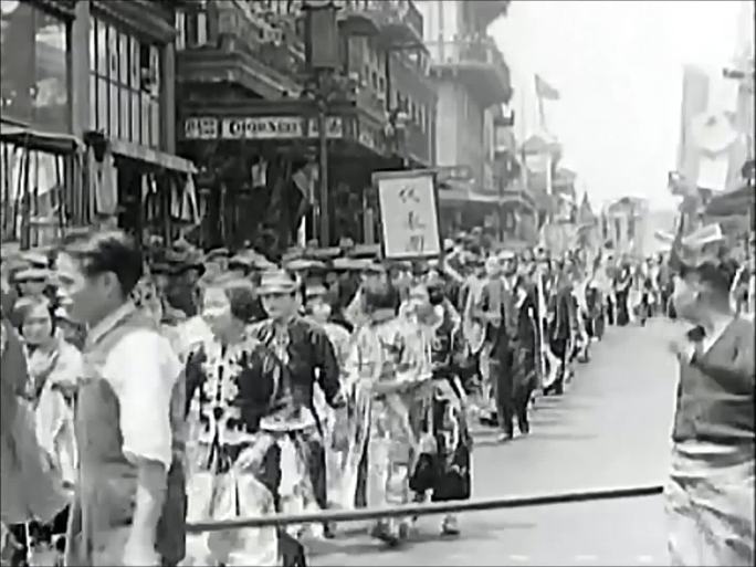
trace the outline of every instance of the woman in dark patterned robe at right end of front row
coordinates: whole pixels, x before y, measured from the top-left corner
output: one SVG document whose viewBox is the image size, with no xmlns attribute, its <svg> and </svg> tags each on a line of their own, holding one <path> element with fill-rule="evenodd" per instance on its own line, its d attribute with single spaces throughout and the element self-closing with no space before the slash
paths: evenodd
<svg viewBox="0 0 756 567">
<path fill-rule="evenodd" d="M 430 345 L 432 376 L 421 416 L 420 453 L 410 489 L 422 495 L 430 491 L 433 502 L 466 500 L 471 492 L 472 438 L 464 411 L 465 392 L 456 375 L 464 344 L 460 316 L 445 297 L 443 286 L 440 279 L 430 279 L 410 292 Z M 441 533 L 459 534 L 455 514 L 444 516 Z"/>
</svg>

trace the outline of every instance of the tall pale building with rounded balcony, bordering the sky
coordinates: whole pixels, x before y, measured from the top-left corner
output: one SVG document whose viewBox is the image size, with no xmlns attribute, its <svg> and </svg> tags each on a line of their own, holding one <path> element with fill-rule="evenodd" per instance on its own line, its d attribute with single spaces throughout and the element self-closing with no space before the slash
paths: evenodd
<svg viewBox="0 0 756 567">
<path fill-rule="evenodd" d="M 442 225 L 445 232 L 471 224 L 498 232 L 495 124 L 512 86 L 504 56 L 486 30 L 505 15 L 508 2 L 424 0 L 418 6 L 437 85 L 437 164 L 469 174 L 452 176 L 441 192 Z"/>
</svg>

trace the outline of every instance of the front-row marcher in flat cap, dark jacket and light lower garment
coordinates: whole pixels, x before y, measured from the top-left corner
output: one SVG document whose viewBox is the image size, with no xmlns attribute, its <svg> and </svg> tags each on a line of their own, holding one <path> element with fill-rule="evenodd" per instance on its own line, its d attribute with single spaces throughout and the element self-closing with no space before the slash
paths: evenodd
<svg viewBox="0 0 756 567">
<path fill-rule="evenodd" d="M 334 347 L 319 325 L 298 315 L 298 283 L 284 270 L 264 273 L 259 293 L 267 318 L 252 326 L 252 335 L 283 367 L 280 408 L 262 419 L 260 434 L 267 443 L 271 470 L 280 475 L 274 490 L 276 508 L 292 513 L 328 505 L 323 423 L 313 400 L 315 384 L 330 408 L 345 405 Z M 290 532 L 295 528 L 290 526 Z M 330 535 L 328 526 L 324 531 L 325 536 Z"/>
</svg>

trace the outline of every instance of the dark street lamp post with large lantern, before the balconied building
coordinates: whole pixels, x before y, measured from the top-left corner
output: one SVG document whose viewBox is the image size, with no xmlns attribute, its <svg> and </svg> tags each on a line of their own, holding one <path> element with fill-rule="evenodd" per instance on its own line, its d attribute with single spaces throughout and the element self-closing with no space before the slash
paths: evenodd
<svg viewBox="0 0 756 567">
<path fill-rule="evenodd" d="M 319 241 L 322 246 L 330 243 L 330 220 L 328 216 L 328 135 L 326 113 L 334 72 L 339 66 L 338 25 L 336 6 L 332 0 L 308 1 L 305 11 L 305 57 L 307 74 L 314 85 L 317 107 L 318 136 L 318 204 Z M 313 227 L 315 231 L 315 227 Z"/>
</svg>

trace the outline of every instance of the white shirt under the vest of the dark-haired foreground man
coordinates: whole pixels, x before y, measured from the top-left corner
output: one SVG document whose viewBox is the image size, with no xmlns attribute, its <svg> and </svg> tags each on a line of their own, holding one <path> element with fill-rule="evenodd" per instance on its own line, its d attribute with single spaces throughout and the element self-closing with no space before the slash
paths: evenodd
<svg viewBox="0 0 756 567">
<path fill-rule="evenodd" d="M 135 308 L 129 302 L 105 317 L 90 330 L 87 343 L 96 343 Z M 128 333 L 108 351 L 102 374 L 118 399 L 124 455 L 170 468 L 170 400 L 181 365 L 168 339 L 156 329 Z"/>
</svg>

